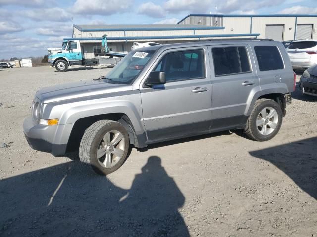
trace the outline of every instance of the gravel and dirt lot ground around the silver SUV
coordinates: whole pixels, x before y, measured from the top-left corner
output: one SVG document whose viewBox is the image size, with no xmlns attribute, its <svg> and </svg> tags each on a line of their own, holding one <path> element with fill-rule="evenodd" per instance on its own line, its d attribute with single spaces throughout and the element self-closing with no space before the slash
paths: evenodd
<svg viewBox="0 0 317 237">
<path fill-rule="evenodd" d="M 268 142 L 160 143 L 107 177 L 32 150 L 22 122 L 36 90 L 107 70 L 0 71 L 0 236 L 317 237 L 317 98 L 298 91 Z"/>
</svg>

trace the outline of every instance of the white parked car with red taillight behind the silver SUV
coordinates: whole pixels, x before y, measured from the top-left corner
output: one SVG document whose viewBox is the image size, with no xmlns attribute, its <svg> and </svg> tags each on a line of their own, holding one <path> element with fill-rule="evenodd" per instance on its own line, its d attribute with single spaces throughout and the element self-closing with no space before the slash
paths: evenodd
<svg viewBox="0 0 317 237">
<path fill-rule="evenodd" d="M 294 70 L 306 70 L 317 64 L 317 40 L 295 40 L 286 50 Z"/>
</svg>

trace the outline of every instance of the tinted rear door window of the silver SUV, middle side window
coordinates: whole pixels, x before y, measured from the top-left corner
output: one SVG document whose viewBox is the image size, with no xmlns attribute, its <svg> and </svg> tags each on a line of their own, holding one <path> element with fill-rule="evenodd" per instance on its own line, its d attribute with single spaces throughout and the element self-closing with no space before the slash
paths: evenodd
<svg viewBox="0 0 317 237">
<path fill-rule="evenodd" d="M 246 47 L 213 48 L 212 57 L 216 76 L 251 71 Z"/>
</svg>

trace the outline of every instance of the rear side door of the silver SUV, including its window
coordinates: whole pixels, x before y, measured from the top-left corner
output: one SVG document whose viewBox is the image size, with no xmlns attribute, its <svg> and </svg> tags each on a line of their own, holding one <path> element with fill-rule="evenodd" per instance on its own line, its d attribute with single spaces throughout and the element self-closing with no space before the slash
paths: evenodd
<svg viewBox="0 0 317 237">
<path fill-rule="evenodd" d="M 244 125 L 250 98 L 260 91 L 252 62 L 251 48 L 245 44 L 212 46 L 211 130 Z"/>
</svg>

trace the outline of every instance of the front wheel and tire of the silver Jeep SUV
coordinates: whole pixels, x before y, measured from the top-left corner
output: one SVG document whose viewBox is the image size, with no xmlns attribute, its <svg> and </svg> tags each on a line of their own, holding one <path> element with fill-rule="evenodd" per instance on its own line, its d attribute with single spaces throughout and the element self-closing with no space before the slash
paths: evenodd
<svg viewBox="0 0 317 237">
<path fill-rule="evenodd" d="M 107 175 L 123 165 L 129 145 L 128 132 L 121 123 L 100 120 L 86 129 L 79 146 L 79 159 L 91 165 L 97 174 Z"/>
</svg>

